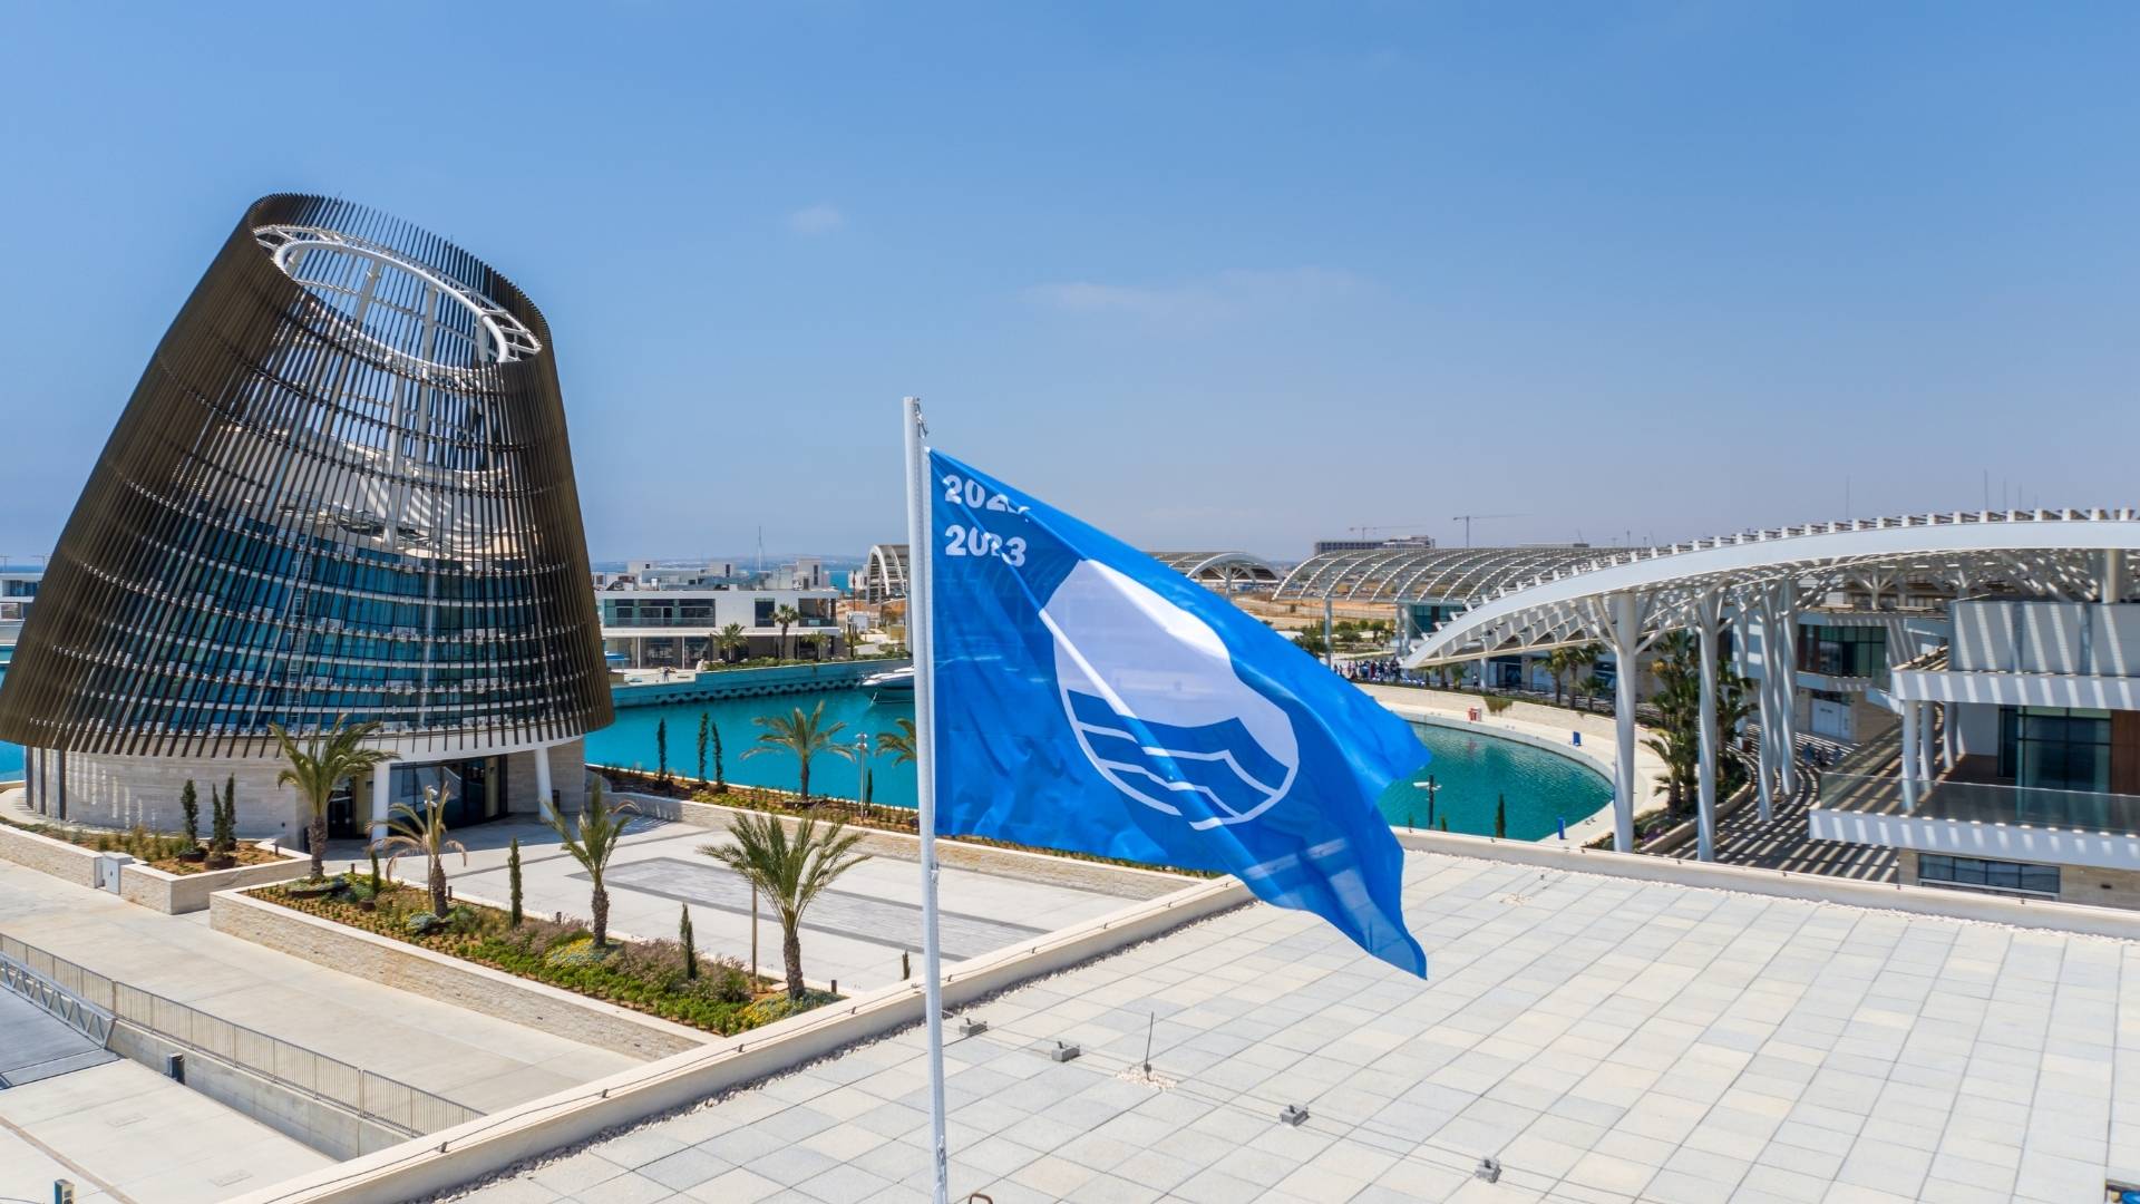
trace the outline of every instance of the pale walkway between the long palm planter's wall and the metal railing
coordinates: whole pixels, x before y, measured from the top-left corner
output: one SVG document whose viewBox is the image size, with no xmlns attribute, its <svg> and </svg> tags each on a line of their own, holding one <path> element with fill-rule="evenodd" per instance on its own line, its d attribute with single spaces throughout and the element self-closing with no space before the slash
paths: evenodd
<svg viewBox="0 0 2140 1204">
<path fill-rule="evenodd" d="M 484 1112 L 631 1065 L 214 932 L 208 913 L 154 913 L 11 861 L 0 861 L 0 932 Z"/>
</svg>

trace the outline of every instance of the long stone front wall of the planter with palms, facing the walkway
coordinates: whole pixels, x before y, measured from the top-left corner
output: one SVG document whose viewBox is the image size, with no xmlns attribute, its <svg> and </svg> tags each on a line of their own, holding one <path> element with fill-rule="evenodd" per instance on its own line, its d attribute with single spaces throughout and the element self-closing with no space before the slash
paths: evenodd
<svg viewBox="0 0 2140 1204">
<path fill-rule="evenodd" d="M 657 1015 L 644 1015 L 629 1007 L 601 1003 L 477 966 L 460 958 L 447 958 L 430 949 L 377 936 L 347 923 L 334 923 L 265 900 L 255 900 L 242 891 L 220 891 L 210 898 L 208 923 L 216 932 L 242 936 L 257 945 L 304 958 L 357 975 L 396 990 L 437 998 L 524 1024 L 537 1033 L 565 1037 L 595 1045 L 627 1058 L 666 1058 L 685 1050 L 698 1050 L 706 1041 L 719 1041 L 713 1033 L 700 1033 L 683 1024 L 672 1024 Z"/>
</svg>

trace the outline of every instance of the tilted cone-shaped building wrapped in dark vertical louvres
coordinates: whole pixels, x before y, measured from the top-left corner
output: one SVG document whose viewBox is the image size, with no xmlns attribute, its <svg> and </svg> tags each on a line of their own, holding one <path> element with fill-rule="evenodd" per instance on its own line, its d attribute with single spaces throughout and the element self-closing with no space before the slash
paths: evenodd
<svg viewBox="0 0 2140 1204">
<path fill-rule="evenodd" d="M 257 201 L 120 413 L 0 683 L 30 803 L 171 829 L 238 778 L 302 825 L 270 724 L 377 720 L 353 831 L 578 797 L 612 718 L 550 328 L 467 251 L 349 201 Z M 556 771 L 552 773 L 552 765 Z"/>
</svg>

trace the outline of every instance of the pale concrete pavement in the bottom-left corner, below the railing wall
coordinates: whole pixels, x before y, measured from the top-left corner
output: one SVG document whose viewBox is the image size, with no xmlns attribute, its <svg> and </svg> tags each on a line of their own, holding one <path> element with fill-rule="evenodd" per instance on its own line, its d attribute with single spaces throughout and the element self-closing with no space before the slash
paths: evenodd
<svg viewBox="0 0 2140 1204">
<path fill-rule="evenodd" d="M 332 1161 L 126 1060 L 0 1090 L 0 1200 L 208 1204 Z"/>
</svg>

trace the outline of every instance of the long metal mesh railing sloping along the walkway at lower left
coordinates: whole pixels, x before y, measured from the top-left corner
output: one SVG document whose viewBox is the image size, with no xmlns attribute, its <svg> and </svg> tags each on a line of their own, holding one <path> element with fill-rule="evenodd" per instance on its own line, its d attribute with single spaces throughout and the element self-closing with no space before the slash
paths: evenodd
<svg viewBox="0 0 2140 1204">
<path fill-rule="evenodd" d="M 265 1078 L 287 1090 L 310 1095 L 409 1138 L 452 1129 L 482 1116 L 482 1112 L 464 1103 L 454 1103 L 441 1095 L 364 1067 L 353 1067 L 304 1045 L 293 1045 L 244 1024 L 231 1024 L 229 1020 L 186 1007 L 175 998 L 107 979 L 66 958 L 0 934 L 0 966 L 6 962 L 15 962 L 30 975 L 86 1000 L 92 1009 L 103 1009 L 111 1022 L 131 1024 L 165 1041 L 186 1045 L 193 1052 Z"/>
</svg>

